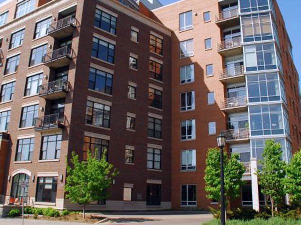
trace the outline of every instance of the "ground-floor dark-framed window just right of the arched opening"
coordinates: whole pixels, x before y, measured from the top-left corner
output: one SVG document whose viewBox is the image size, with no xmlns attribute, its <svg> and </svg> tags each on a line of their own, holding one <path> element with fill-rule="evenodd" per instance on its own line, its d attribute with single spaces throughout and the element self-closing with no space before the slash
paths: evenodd
<svg viewBox="0 0 301 225">
<path fill-rule="evenodd" d="M 57 183 L 57 177 L 38 177 L 36 201 L 55 203 Z"/>
</svg>

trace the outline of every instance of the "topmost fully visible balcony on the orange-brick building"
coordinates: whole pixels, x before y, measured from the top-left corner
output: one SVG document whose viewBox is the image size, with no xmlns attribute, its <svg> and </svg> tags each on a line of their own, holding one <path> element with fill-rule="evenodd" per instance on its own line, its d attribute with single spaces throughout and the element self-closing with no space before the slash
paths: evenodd
<svg viewBox="0 0 301 225">
<path fill-rule="evenodd" d="M 239 25 L 238 8 L 220 12 L 215 17 L 215 23 L 220 28 L 238 26 Z"/>
</svg>

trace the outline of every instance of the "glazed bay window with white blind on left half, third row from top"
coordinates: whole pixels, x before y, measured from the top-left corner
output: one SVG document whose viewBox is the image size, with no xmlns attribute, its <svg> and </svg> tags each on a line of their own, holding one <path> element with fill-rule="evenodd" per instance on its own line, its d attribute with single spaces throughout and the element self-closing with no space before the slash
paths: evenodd
<svg viewBox="0 0 301 225">
<path fill-rule="evenodd" d="M 274 43 L 244 46 L 246 71 L 261 71 L 277 68 Z"/>
</svg>

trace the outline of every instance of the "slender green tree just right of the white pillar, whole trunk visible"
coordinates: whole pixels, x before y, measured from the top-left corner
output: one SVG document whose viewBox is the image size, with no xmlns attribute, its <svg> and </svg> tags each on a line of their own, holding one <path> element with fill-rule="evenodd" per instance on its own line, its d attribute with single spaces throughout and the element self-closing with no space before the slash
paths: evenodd
<svg viewBox="0 0 301 225">
<path fill-rule="evenodd" d="M 274 208 L 283 200 L 285 178 L 285 162 L 282 160 L 281 144 L 273 140 L 265 142 L 263 150 L 262 170 L 257 172 L 258 183 L 262 187 L 262 193 L 269 196 L 272 205 L 272 216 Z"/>
</svg>

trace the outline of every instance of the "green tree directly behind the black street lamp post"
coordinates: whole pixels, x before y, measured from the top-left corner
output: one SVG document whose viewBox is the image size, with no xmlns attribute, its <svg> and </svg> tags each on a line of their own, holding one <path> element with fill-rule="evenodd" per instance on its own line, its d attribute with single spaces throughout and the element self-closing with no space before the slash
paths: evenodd
<svg viewBox="0 0 301 225">
<path fill-rule="evenodd" d="M 204 177 L 206 197 L 208 199 L 219 200 L 221 198 L 220 171 L 220 150 L 209 148 Z M 225 195 L 229 205 L 230 200 L 240 196 L 240 188 L 243 184 L 242 175 L 245 172 L 245 168 L 239 162 L 238 154 L 231 154 L 228 159 L 227 154 L 224 152 L 224 172 Z"/>
</svg>

